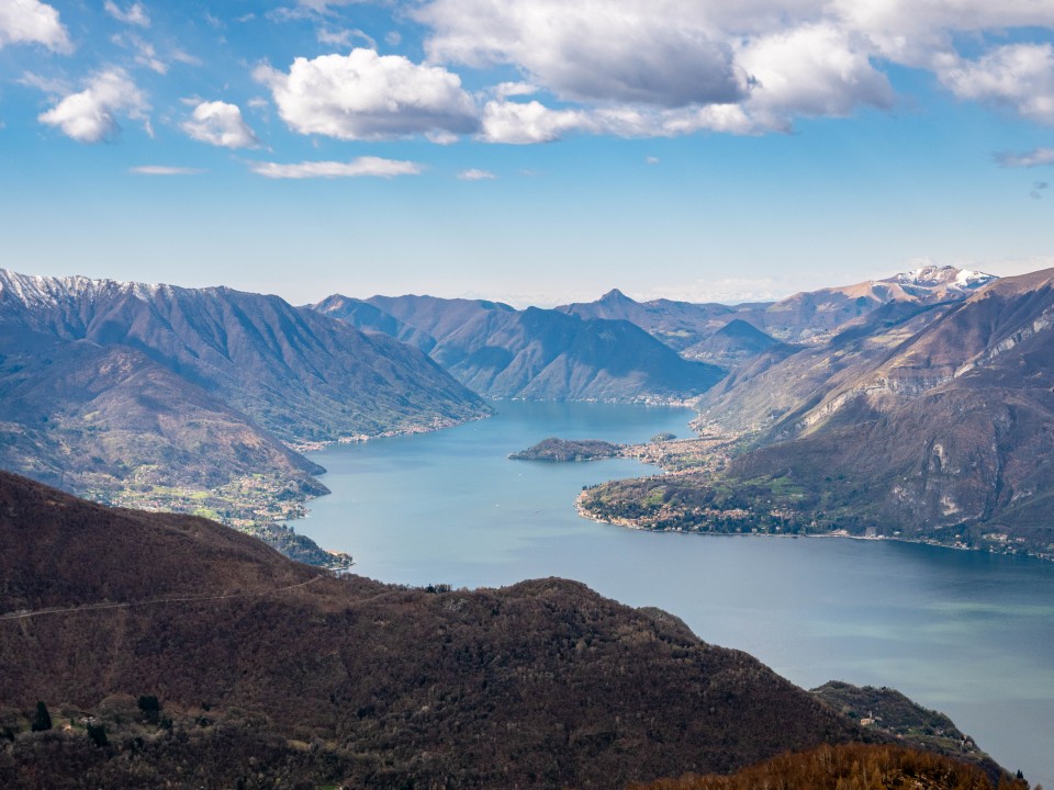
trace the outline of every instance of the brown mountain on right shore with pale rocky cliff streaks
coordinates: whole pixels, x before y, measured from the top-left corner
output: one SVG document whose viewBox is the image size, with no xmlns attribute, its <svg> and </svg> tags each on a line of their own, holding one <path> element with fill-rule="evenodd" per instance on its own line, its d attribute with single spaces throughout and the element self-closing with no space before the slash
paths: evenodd
<svg viewBox="0 0 1054 790">
<path fill-rule="evenodd" d="M 1050 551 L 1052 285 L 1054 271 L 1000 280 L 886 353 L 859 359 L 775 420 L 735 470 L 789 472 L 807 485 L 837 472 L 850 483 L 836 483 L 833 498 L 872 526 L 1021 538 Z"/>
</svg>

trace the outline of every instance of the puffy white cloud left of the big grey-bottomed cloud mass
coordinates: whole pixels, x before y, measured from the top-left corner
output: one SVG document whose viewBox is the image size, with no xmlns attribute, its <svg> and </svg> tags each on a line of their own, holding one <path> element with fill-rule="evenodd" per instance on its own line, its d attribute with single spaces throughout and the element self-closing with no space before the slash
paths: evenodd
<svg viewBox="0 0 1054 790">
<path fill-rule="evenodd" d="M 301 134 L 384 139 L 415 134 L 466 134 L 478 109 L 461 78 L 399 55 L 352 49 L 348 55 L 296 58 L 289 74 L 260 67 L 282 120 Z"/>
</svg>

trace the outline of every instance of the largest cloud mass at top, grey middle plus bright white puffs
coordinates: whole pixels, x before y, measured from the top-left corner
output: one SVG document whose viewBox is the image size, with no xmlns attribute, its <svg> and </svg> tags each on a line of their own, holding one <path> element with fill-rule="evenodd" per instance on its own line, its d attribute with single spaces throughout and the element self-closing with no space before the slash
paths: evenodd
<svg viewBox="0 0 1054 790">
<path fill-rule="evenodd" d="M 830 0 L 429 0 L 413 15 L 430 27 L 430 61 L 529 79 L 491 90 L 492 142 L 756 134 L 895 101 L 876 44 Z M 540 91 L 564 106 L 506 101 Z"/>
</svg>

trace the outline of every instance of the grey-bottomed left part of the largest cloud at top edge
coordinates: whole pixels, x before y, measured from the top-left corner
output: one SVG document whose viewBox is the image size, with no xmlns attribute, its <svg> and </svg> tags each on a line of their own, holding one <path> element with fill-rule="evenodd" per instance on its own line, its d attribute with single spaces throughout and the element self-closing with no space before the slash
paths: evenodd
<svg viewBox="0 0 1054 790">
<path fill-rule="evenodd" d="M 562 98 L 679 106 L 747 93 L 706 3 L 679 0 L 433 0 L 429 59 L 514 65 Z"/>
</svg>

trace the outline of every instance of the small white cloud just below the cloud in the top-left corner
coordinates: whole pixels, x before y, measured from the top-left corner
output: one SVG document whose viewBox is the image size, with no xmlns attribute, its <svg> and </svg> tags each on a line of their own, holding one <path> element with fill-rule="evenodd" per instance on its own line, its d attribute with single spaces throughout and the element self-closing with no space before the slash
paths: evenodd
<svg viewBox="0 0 1054 790">
<path fill-rule="evenodd" d="M 146 97 L 123 69 L 100 71 L 79 93 L 71 93 L 38 116 L 78 143 L 99 143 L 115 136 L 121 126 L 116 115 L 144 120 L 149 110 Z"/>
</svg>

